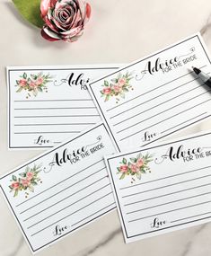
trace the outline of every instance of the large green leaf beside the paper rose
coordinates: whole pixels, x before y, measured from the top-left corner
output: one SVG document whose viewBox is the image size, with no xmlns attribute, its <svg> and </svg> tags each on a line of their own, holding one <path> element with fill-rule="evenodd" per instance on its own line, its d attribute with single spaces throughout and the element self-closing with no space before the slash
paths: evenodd
<svg viewBox="0 0 211 256">
<path fill-rule="evenodd" d="M 34 26 L 42 28 L 44 22 L 40 17 L 40 0 L 13 0 L 13 4 L 15 4 L 24 19 Z"/>
</svg>

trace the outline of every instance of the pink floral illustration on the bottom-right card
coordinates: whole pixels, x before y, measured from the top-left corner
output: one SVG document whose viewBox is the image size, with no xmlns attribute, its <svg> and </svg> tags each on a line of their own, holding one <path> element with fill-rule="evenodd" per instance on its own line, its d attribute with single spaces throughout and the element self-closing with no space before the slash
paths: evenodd
<svg viewBox="0 0 211 256">
<path fill-rule="evenodd" d="M 151 172 L 149 163 L 153 161 L 153 155 L 151 154 L 137 154 L 136 157 L 123 158 L 120 162 L 120 166 L 117 167 L 117 174 L 120 175 L 119 180 L 123 180 L 125 177 L 130 176 L 132 178 L 131 183 L 136 179 L 141 180 L 143 174 Z"/>
</svg>

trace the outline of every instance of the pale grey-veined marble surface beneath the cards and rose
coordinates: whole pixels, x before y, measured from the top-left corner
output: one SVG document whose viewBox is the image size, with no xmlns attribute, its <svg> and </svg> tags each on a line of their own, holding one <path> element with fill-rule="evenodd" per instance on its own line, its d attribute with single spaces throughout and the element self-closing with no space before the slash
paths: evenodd
<svg viewBox="0 0 211 256">
<path fill-rule="evenodd" d="M 7 150 L 5 66 L 127 63 L 196 31 L 201 31 L 211 51 L 210 0 L 89 2 L 92 20 L 84 37 L 67 44 L 42 40 L 38 29 L 22 21 L 12 1 L 0 1 L 0 174 L 41 152 Z M 209 128 L 211 120 L 183 134 Z M 31 255 L 2 196 L 0 213 L 0 255 Z M 115 210 L 38 255 L 207 256 L 211 254 L 210 233 L 211 224 L 198 225 L 125 244 Z"/>
</svg>

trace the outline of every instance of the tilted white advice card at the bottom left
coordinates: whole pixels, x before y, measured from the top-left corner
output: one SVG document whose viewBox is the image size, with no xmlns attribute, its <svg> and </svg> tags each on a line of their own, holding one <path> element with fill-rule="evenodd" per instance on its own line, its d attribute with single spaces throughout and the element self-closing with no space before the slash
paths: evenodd
<svg viewBox="0 0 211 256">
<path fill-rule="evenodd" d="M 103 159 L 115 152 L 105 125 L 98 124 L 1 178 L 31 252 L 116 207 Z"/>
</svg>

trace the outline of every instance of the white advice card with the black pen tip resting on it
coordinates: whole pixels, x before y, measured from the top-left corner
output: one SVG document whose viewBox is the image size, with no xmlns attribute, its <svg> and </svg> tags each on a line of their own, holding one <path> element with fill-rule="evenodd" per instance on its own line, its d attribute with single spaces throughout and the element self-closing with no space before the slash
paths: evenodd
<svg viewBox="0 0 211 256">
<path fill-rule="evenodd" d="M 191 66 L 210 74 L 199 34 L 88 86 L 119 151 L 149 145 L 210 117 L 211 89 Z"/>
</svg>

